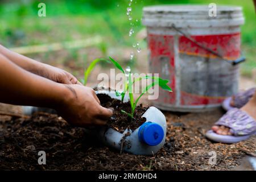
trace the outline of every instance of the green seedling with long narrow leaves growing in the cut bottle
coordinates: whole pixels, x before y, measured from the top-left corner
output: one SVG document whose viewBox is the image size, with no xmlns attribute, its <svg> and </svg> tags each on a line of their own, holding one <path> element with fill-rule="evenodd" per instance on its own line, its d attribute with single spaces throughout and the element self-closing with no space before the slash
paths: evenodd
<svg viewBox="0 0 256 182">
<path fill-rule="evenodd" d="M 170 88 L 170 86 L 168 86 L 168 80 L 164 80 L 163 78 L 160 77 L 152 77 L 152 76 L 144 76 L 144 77 L 138 77 L 136 78 L 134 81 L 131 78 L 131 73 L 128 72 L 126 73 L 125 70 L 121 67 L 121 65 L 115 61 L 112 57 L 109 57 L 109 60 L 106 59 L 96 59 L 94 60 L 88 67 L 88 69 L 86 69 L 85 73 L 84 73 L 84 85 L 86 85 L 87 80 L 88 80 L 88 76 L 90 75 L 90 72 L 92 72 L 93 68 L 96 66 L 96 64 L 100 61 L 106 61 L 108 63 L 112 63 L 114 64 L 114 66 L 119 69 L 124 75 L 125 75 L 125 79 L 123 81 L 123 85 L 124 85 L 124 89 L 123 92 L 119 93 L 118 91 L 115 92 L 115 94 L 117 96 L 121 96 L 121 101 L 123 102 L 123 99 L 125 97 L 125 94 L 128 90 L 129 92 L 129 98 L 130 98 L 130 104 L 131 104 L 131 113 L 127 113 L 126 111 L 122 110 L 122 113 L 127 114 L 131 119 L 134 118 L 134 111 L 135 108 L 138 104 L 139 99 L 143 96 L 143 94 L 145 94 L 150 88 L 152 88 L 155 85 L 159 85 L 160 88 L 167 90 L 168 92 L 172 92 L 172 89 Z M 128 76 L 128 80 L 127 77 Z M 137 98 L 137 100 L 135 100 L 134 102 L 134 97 L 133 97 L 133 85 L 135 82 L 137 81 L 141 81 L 142 79 L 149 79 L 151 78 L 152 80 L 154 80 L 150 85 L 147 85 L 146 88 L 144 88 L 142 90 L 141 95 Z"/>
</svg>

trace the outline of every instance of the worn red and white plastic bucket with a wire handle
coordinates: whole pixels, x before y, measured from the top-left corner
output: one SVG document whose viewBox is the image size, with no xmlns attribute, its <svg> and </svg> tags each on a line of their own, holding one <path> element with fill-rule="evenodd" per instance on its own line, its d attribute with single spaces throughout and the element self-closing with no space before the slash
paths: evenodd
<svg viewBox="0 0 256 182">
<path fill-rule="evenodd" d="M 147 27 L 151 73 L 170 80 L 172 93 L 159 90 L 152 104 L 163 110 L 197 112 L 221 106 L 238 92 L 241 7 L 148 6 Z"/>
</svg>

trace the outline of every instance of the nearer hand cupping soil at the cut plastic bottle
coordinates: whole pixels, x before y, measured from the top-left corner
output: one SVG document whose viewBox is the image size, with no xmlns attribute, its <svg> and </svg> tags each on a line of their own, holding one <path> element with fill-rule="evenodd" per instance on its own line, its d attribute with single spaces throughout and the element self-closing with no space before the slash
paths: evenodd
<svg viewBox="0 0 256 182">
<path fill-rule="evenodd" d="M 56 110 L 76 126 L 105 125 L 113 111 L 100 105 L 94 90 L 81 85 L 65 85 L 67 98 Z"/>
</svg>

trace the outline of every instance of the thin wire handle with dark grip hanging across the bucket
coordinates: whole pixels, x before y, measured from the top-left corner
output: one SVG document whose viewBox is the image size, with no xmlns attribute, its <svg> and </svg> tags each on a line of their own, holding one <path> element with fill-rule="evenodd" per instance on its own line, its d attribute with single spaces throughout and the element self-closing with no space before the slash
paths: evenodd
<svg viewBox="0 0 256 182">
<path fill-rule="evenodd" d="M 244 62 L 246 59 L 245 59 L 245 56 L 241 56 L 239 57 L 238 59 L 236 60 L 228 60 L 228 59 L 225 59 L 222 55 L 220 55 L 219 53 L 213 51 L 212 49 L 208 48 L 208 47 L 205 47 L 203 46 L 202 44 L 200 44 L 199 42 L 197 42 L 195 39 L 191 38 L 191 36 L 185 34 L 183 31 L 181 31 L 179 28 L 177 28 L 175 26 L 175 24 L 172 24 L 172 28 L 174 28 L 174 30 L 176 30 L 177 32 L 179 32 L 180 34 L 182 34 L 183 36 L 185 36 L 185 38 L 187 38 L 188 40 L 190 40 L 191 42 L 195 43 L 197 46 L 205 49 L 206 51 L 212 53 L 213 55 L 217 56 L 217 57 L 220 57 L 222 60 L 226 61 L 227 63 L 229 64 L 232 64 L 232 65 L 237 65 L 237 64 L 240 64 L 242 62 Z"/>
</svg>

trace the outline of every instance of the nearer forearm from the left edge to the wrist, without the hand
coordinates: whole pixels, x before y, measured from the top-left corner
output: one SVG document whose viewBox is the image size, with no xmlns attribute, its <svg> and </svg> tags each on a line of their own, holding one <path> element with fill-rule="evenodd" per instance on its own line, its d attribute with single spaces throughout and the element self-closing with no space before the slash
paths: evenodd
<svg viewBox="0 0 256 182">
<path fill-rule="evenodd" d="M 0 55 L 0 102 L 55 107 L 67 93 L 65 85 L 30 73 Z"/>
</svg>

